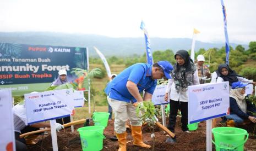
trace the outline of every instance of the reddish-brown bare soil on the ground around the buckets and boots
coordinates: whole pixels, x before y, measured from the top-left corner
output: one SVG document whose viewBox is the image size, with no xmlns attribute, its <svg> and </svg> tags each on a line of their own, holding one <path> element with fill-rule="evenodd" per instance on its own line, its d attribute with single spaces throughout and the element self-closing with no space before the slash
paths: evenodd
<svg viewBox="0 0 256 151">
<path fill-rule="evenodd" d="M 168 121 L 168 120 L 167 120 Z M 92 125 L 92 123 L 91 123 Z M 250 137 L 246 144 L 244 144 L 244 150 L 256 150 L 256 137 L 252 135 L 255 124 L 241 125 L 244 129 L 247 129 L 250 133 Z M 217 123 L 217 127 L 226 126 L 225 124 Z M 65 132 L 57 132 L 58 139 L 58 150 L 81 150 L 80 136 L 77 129 L 83 127 L 83 124 L 76 125 L 75 131 L 72 133 L 70 128 L 66 129 Z M 155 129 L 155 150 L 206 150 L 206 122 L 201 122 L 198 126 L 198 130 L 186 133 L 181 130 L 180 119 L 177 118 L 176 124 L 176 136 L 177 143 L 170 144 L 166 143 L 167 136 L 163 131 L 158 128 Z M 113 136 L 114 128 L 113 121 L 108 123 L 104 131 L 106 139 L 104 140 L 104 147 L 102 150 L 117 150 L 118 142 L 111 141 L 110 137 Z M 152 130 L 148 126 L 143 126 L 143 140 L 145 143 L 153 146 L 152 138 L 150 137 Z M 44 135 L 43 139 L 40 136 L 38 143 L 33 146 L 28 146 L 29 150 L 52 150 L 51 135 Z M 152 150 L 141 147 L 133 146 L 133 138 L 129 130 L 127 130 L 127 150 Z M 215 146 L 213 144 L 213 150 Z"/>
</svg>

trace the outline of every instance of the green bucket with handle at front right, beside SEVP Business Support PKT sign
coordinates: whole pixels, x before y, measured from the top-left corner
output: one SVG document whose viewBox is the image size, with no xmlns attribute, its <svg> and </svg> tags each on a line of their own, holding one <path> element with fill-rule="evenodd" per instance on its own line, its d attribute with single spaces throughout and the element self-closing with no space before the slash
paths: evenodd
<svg viewBox="0 0 256 151">
<path fill-rule="evenodd" d="M 248 140 L 248 132 L 236 127 L 216 127 L 211 130 L 214 140 L 211 140 L 216 150 L 237 150 L 242 151 L 243 145 Z"/>
</svg>

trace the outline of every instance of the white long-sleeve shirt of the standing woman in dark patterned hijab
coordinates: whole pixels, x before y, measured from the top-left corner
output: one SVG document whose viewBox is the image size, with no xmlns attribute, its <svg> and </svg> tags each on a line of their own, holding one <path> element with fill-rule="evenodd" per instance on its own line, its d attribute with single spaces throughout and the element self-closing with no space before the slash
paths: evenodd
<svg viewBox="0 0 256 151">
<path fill-rule="evenodd" d="M 198 78 L 198 71 L 195 70 L 193 74 L 193 85 L 198 85 L 198 84 L 200 84 L 199 78 Z M 177 92 L 173 79 L 168 79 L 168 84 L 165 92 L 168 93 L 169 99 L 173 101 L 188 102 L 188 90 L 187 91 L 180 90 L 179 92 Z"/>
</svg>

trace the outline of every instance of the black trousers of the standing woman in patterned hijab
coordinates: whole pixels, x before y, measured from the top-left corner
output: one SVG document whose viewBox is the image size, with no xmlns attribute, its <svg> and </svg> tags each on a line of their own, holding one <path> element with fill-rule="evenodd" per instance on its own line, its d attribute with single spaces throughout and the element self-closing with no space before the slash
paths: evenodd
<svg viewBox="0 0 256 151">
<path fill-rule="evenodd" d="M 170 100 L 170 116 L 167 128 L 171 132 L 175 132 L 175 124 L 178 109 L 181 110 L 181 129 L 182 131 L 188 131 L 188 102 Z"/>
</svg>

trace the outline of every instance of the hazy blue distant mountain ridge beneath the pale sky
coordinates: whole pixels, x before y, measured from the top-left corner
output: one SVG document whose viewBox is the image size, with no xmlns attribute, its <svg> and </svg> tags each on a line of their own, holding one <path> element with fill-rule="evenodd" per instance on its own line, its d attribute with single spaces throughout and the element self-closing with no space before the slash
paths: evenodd
<svg viewBox="0 0 256 151">
<path fill-rule="evenodd" d="M 97 56 L 93 46 L 97 47 L 105 56 L 130 56 L 145 53 L 145 40 L 141 38 L 112 38 L 93 34 L 68 34 L 54 32 L 0 32 L 0 43 L 58 45 L 69 47 L 88 47 L 90 56 Z M 192 39 L 189 38 L 150 38 L 151 49 L 171 49 L 176 52 L 179 49 L 189 50 Z M 231 43 L 233 48 L 238 44 Z M 200 48 L 221 48 L 224 43 L 205 43 L 197 41 L 195 51 Z M 243 45 L 248 49 L 248 45 Z"/>
</svg>

